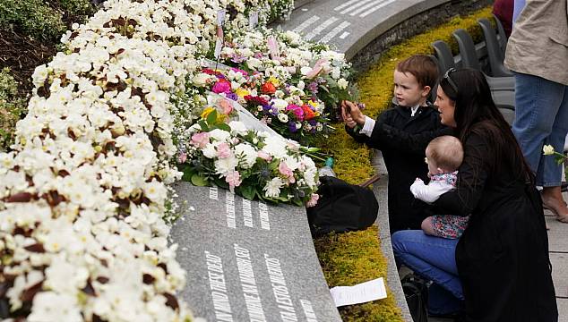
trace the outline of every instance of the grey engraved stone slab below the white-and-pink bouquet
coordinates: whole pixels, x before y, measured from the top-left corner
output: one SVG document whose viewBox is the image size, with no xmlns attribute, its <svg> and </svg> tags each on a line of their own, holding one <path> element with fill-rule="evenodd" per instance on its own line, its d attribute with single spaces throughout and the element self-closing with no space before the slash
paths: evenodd
<svg viewBox="0 0 568 322">
<path fill-rule="evenodd" d="M 187 271 L 181 296 L 208 321 L 340 321 L 316 257 L 306 209 L 176 183 L 172 227 Z M 186 200 L 186 201 L 185 201 Z"/>
</svg>

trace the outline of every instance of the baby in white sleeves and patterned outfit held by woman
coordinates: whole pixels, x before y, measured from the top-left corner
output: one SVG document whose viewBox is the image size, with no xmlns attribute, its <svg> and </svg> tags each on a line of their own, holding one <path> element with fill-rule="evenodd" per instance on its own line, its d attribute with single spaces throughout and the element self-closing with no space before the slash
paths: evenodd
<svg viewBox="0 0 568 322">
<path fill-rule="evenodd" d="M 426 163 L 430 182 L 426 185 L 417 179 L 410 186 L 415 198 L 433 203 L 444 192 L 456 186 L 458 167 L 463 161 L 461 142 L 455 137 L 444 135 L 432 140 L 426 147 Z M 448 238 L 460 238 L 468 225 L 469 216 L 429 216 L 422 222 L 424 233 Z"/>
</svg>

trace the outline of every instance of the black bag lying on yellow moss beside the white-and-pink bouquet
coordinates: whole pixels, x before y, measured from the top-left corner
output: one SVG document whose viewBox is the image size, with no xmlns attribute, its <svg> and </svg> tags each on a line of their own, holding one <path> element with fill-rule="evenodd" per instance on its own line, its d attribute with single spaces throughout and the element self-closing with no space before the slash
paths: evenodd
<svg viewBox="0 0 568 322">
<path fill-rule="evenodd" d="M 321 177 L 320 182 L 317 205 L 306 209 L 312 235 L 346 233 L 373 225 L 379 210 L 373 191 L 331 176 Z"/>
</svg>

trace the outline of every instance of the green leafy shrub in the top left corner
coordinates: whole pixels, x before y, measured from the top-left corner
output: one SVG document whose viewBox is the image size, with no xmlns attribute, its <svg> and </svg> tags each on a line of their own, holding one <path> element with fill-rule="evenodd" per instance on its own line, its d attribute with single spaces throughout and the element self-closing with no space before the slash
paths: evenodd
<svg viewBox="0 0 568 322">
<path fill-rule="evenodd" d="M 3 0 L 0 27 L 46 41 L 57 41 L 72 22 L 81 22 L 95 12 L 89 0 Z M 67 23 L 65 23 L 67 21 Z"/>
</svg>

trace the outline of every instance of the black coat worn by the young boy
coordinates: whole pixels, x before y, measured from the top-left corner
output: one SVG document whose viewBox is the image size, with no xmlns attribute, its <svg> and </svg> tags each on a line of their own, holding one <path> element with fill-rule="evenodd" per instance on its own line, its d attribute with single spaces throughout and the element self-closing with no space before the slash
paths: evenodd
<svg viewBox="0 0 568 322">
<path fill-rule="evenodd" d="M 404 229 L 420 229 L 430 207 L 415 199 L 410 185 L 416 178 L 428 181 L 425 150 L 430 140 L 452 135 L 452 129 L 440 123 L 440 114 L 432 105 L 420 106 L 414 116 L 410 108 L 393 105 L 376 120 L 371 137 L 346 127 L 349 135 L 369 148 L 383 152 L 389 173 L 388 199 L 391 233 Z"/>
</svg>

